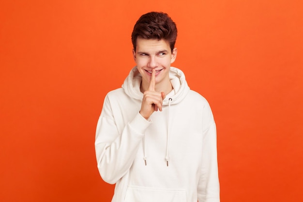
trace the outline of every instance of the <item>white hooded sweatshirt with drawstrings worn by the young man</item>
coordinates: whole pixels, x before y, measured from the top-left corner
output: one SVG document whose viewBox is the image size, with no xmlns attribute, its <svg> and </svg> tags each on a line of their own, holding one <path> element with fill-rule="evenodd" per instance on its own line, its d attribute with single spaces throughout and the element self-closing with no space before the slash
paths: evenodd
<svg viewBox="0 0 303 202">
<path fill-rule="evenodd" d="M 170 67 L 173 90 L 149 120 L 139 110 L 141 75 L 106 95 L 95 150 L 112 202 L 220 202 L 216 127 L 208 102 Z"/>
</svg>

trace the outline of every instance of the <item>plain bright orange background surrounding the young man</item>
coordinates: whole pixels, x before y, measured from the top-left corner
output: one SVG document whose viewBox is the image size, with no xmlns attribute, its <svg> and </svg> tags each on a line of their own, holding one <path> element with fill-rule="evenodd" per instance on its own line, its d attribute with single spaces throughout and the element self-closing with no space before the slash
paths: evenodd
<svg viewBox="0 0 303 202">
<path fill-rule="evenodd" d="M 211 104 L 221 201 L 303 201 L 302 2 L 1 0 L 0 201 L 110 201 L 95 127 L 150 11 L 176 22 L 173 66 Z"/>
</svg>

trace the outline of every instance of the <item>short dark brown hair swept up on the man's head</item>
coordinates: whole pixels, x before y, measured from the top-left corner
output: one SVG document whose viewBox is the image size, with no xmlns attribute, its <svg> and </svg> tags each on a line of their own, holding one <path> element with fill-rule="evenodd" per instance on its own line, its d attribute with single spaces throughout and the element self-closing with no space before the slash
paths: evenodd
<svg viewBox="0 0 303 202">
<path fill-rule="evenodd" d="M 164 39 L 173 51 L 177 39 L 177 27 L 166 13 L 150 12 L 142 15 L 134 26 L 132 43 L 135 51 L 137 38 Z"/>
</svg>

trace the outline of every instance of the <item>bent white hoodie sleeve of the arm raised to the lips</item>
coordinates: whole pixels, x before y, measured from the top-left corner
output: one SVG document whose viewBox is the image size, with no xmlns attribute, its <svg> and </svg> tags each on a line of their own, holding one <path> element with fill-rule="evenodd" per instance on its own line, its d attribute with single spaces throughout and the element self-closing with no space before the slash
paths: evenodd
<svg viewBox="0 0 303 202">
<path fill-rule="evenodd" d="M 106 95 L 95 137 L 98 170 L 105 182 L 115 184 L 128 172 L 136 157 L 144 132 L 150 124 L 151 122 L 144 119 L 138 112 L 134 119 L 125 124 L 119 132 L 110 99 Z"/>
</svg>

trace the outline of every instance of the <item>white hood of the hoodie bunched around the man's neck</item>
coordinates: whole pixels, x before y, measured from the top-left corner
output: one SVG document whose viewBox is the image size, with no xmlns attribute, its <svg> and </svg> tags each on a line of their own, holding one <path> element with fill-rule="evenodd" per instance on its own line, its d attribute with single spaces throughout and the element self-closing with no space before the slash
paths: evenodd
<svg viewBox="0 0 303 202">
<path fill-rule="evenodd" d="M 170 67 L 169 79 L 173 90 L 166 95 L 165 99 L 163 100 L 163 105 L 168 105 L 169 98 L 171 98 L 171 105 L 178 104 L 189 92 L 189 86 L 185 80 L 185 75 L 180 69 Z M 127 78 L 125 78 L 122 88 L 128 96 L 137 100 L 142 100 L 143 93 L 140 91 L 141 81 L 142 76 L 135 66 L 130 71 Z"/>
</svg>

